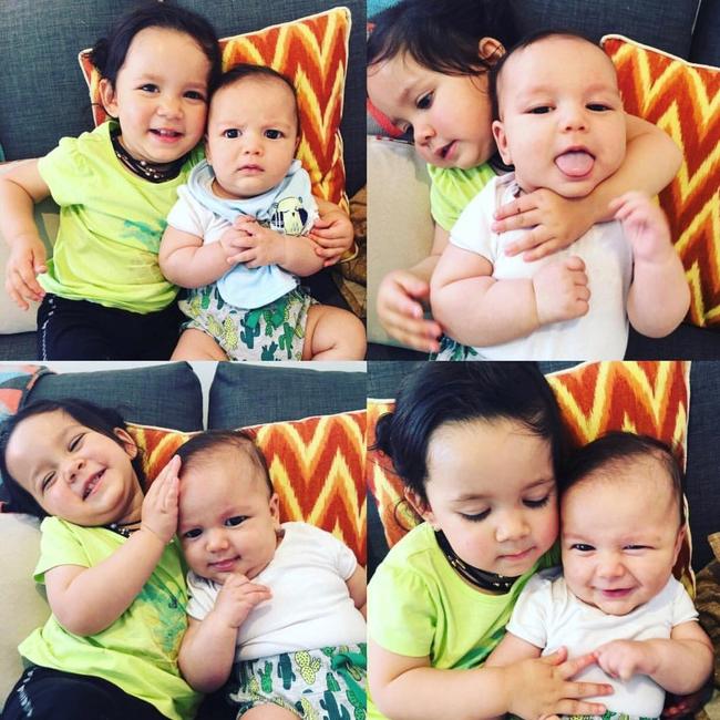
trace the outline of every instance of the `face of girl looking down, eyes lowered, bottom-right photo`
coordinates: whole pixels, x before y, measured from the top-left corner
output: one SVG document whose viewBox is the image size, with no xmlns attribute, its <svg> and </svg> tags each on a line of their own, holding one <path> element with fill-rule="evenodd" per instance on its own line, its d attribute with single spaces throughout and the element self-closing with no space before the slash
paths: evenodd
<svg viewBox="0 0 720 720">
<path fill-rule="evenodd" d="M 465 563 L 529 570 L 557 537 L 551 445 L 510 420 L 445 423 L 428 450 L 428 502 L 410 502 Z"/>
</svg>

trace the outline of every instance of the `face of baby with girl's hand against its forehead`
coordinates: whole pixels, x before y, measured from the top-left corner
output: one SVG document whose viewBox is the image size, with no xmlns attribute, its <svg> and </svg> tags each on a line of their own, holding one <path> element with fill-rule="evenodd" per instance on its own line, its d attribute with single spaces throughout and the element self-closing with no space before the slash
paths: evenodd
<svg viewBox="0 0 720 720">
<path fill-rule="evenodd" d="M 253 579 L 278 545 L 278 496 L 244 452 L 219 449 L 182 471 L 177 535 L 191 569 L 220 585 Z"/>
</svg>

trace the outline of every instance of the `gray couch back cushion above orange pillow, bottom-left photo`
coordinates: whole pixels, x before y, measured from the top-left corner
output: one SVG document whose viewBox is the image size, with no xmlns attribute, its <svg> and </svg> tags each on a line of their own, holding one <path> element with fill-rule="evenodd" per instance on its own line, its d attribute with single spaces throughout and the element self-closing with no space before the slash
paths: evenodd
<svg viewBox="0 0 720 720">
<path fill-rule="evenodd" d="M 207 426 L 240 428 L 364 407 L 364 372 L 220 362 L 210 387 Z"/>
</svg>

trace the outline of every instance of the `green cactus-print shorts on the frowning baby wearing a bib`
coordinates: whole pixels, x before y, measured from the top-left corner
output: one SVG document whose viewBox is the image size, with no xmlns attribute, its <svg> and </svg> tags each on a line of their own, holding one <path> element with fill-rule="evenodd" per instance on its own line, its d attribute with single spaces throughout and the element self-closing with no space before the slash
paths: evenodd
<svg viewBox="0 0 720 720">
<path fill-rule="evenodd" d="M 194 328 L 214 338 L 229 360 L 301 360 L 308 310 L 313 300 L 295 288 L 260 308 L 245 310 L 223 300 L 217 286 L 187 291 L 178 302 Z"/>
</svg>

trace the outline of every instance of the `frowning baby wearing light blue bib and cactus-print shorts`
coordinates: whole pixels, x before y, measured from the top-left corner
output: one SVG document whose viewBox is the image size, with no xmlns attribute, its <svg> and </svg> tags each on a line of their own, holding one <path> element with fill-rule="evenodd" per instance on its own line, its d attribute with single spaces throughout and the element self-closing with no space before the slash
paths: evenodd
<svg viewBox="0 0 720 720">
<path fill-rule="evenodd" d="M 360 320 L 299 287 L 297 276 L 325 264 L 309 237 L 318 209 L 295 160 L 299 142 L 295 88 L 284 75 L 240 64 L 213 88 L 207 161 L 179 189 L 161 246 L 165 277 L 193 288 L 181 301 L 189 320 L 173 359 L 364 357 Z"/>
</svg>

